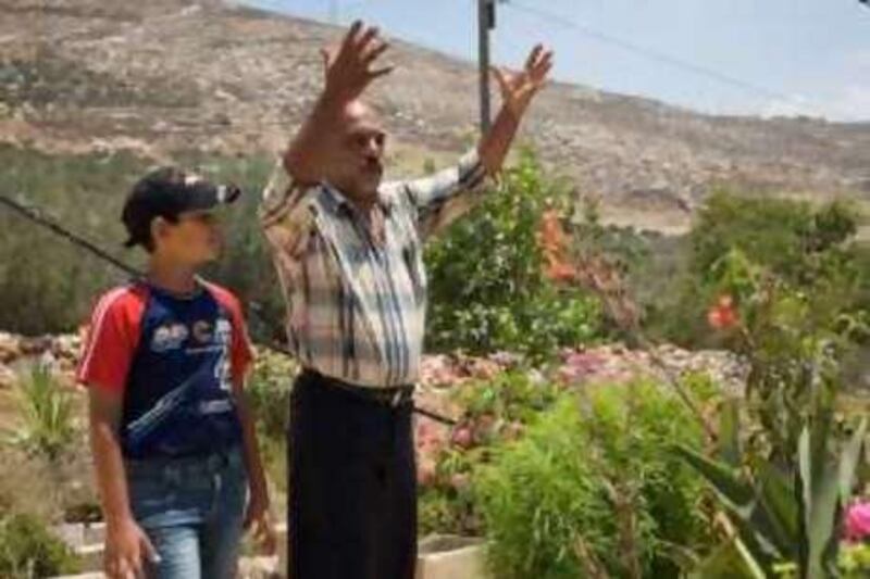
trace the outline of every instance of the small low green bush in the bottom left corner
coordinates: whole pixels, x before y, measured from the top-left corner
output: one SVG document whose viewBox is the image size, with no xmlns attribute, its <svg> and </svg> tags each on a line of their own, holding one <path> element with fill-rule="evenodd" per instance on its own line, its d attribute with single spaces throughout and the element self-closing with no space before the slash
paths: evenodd
<svg viewBox="0 0 870 579">
<path fill-rule="evenodd" d="M 79 571 L 70 549 L 37 518 L 13 514 L 0 517 L 0 577 L 37 579 Z"/>
</svg>

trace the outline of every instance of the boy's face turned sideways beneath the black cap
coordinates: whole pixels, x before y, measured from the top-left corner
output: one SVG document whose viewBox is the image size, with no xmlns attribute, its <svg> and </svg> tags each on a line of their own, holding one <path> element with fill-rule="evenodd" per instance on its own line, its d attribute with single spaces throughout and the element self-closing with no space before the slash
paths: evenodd
<svg viewBox="0 0 870 579">
<path fill-rule="evenodd" d="M 158 217 L 151 229 L 154 253 L 184 265 L 216 260 L 223 246 L 219 215 L 211 211 L 185 212 L 176 222 Z"/>
</svg>

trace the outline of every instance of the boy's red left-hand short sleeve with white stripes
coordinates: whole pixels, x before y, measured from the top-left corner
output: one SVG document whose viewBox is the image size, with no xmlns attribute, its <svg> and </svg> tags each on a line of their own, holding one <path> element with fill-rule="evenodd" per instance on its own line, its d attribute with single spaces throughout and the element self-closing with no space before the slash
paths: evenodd
<svg viewBox="0 0 870 579">
<path fill-rule="evenodd" d="M 141 304 L 129 288 L 105 293 L 90 318 L 82 360 L 76 372 L 78 382 L 121 393 L 136 351 Z"/>
</svg>

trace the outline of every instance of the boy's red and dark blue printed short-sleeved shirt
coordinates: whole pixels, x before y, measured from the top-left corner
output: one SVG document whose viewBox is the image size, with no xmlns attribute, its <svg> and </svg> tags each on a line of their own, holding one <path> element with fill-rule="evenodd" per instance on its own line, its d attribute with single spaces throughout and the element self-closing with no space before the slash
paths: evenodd
<svg viewBox="0 0 870 579">
<path fill-rule="evenodd" d="M 233 382 L 251 360 L 227 290 L 200 281 L 182 297 L 135 281 L 99 300 L 77 378 L 123 395 L 125 457 L 191 456 L 240 442 Z"/>
</svg>

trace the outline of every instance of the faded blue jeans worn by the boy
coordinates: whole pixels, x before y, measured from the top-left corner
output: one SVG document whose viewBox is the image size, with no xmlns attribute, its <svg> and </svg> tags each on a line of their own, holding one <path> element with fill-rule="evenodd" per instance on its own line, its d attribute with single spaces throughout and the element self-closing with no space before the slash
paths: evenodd
<svg viewBox="0 0 870 579">
<path fill-rule="evenodd" d="M 243 451 L 127 461 L 130 508 L 160 555 L 152 579 L 232 579 L 248 480 Z"/>
</svg>

